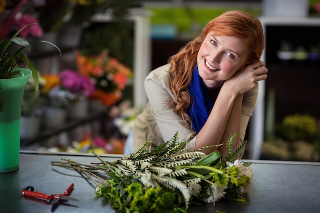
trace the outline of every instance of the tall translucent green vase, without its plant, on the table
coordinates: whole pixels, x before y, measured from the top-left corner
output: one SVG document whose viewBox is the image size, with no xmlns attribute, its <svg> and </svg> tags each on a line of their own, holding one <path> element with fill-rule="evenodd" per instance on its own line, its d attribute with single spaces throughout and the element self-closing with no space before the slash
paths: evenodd
<svg viewBox="0 0 320 213">
<path fill-rule="evenodd" d="M 21 70 L 21 76 L 0 79 L 0 97 L 4 98 L 0 112 L 0 173 L 19 169 L 21 104 L 32 73 L 29 69 L 14 69 Z"/>
</svg>

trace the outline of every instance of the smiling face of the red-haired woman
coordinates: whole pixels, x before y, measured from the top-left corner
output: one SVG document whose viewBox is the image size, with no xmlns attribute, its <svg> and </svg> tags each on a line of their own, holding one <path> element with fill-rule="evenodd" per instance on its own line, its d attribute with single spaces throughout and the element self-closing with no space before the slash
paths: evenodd
<svg viewBox="0 0 320 213">
<path fill-rule="evenodd" d="M 217 36 L 215 32 L 210 32 L 205 36 L 198 52 L 199 75 L 207 87 L 221 86 L 244 67 L 248 54 L 249 50 L 243 39 Z"/>
</svg>

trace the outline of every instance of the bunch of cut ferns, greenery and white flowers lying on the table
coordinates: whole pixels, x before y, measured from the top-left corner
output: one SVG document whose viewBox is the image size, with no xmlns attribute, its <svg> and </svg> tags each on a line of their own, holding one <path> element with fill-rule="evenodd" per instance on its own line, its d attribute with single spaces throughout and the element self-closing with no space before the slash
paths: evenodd
<svg viewBox="0 0 320 213">
<path fill-rule="evenodd" d="M 119 160 L 82 164 L 71 159 L 52 161 L 52 165 L 75 169 L 96 184 L 98 197 L 123 212 L 187 212 L 191 205 L 221 200 L 246 202 L 243 194 L 252 183 L 250 163 L 237 160 L 245 143 L 232 149 L 234 134 L 227 141 L 228 154 L 219 151 L 205 155 L 178 141 L 178 133 L 163 145 L 151 149 L 152 141 Z"/>
</svg>

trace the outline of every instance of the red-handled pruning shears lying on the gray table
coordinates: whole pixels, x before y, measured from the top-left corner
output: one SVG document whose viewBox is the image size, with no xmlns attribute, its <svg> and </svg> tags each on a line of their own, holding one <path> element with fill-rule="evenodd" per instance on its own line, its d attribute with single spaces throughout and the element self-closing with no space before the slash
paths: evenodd
<svg viewBox="0 0 320 213">
<path fill-rule="evenodd" d="M 24 188 L 21 191 L 21 194 L 23 196 L 28 196 L 28 197 L 40 198 L 40 199 L 43 199 L 43 200 L 48 200 L 48 202 L 51 202 L 51 204 L 54 205 L 59 200 L 78 201 L 75 198 L 69 197 L 69 194 L 73 190 L 73 187 L 74 187 L 74 184 L 71 183 L 71 185 L 68 186 L 63 193 L 47 195 L 47 194 L 44 194 L 44 193 L 34 192 L 34 187 L 33 186 L 27 186 L 26 188 Z"/>
</svg>

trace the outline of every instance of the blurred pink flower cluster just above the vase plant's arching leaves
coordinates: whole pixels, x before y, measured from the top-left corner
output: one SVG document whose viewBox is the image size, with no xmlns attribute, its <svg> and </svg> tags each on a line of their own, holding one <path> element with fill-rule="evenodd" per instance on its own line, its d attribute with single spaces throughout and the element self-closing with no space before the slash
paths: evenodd
<svg viewBox="0 0 320 213">
<path fill-rule="evenodd" d="M 28 14 L 22 15 L 21 18 L 16 20 L 18 29 L 21 29 L 22 27 L 29 25 L 29 23 L 36 23 L 36 24 L 26 27 L 24 30 L 21 31 L 20 35 L 24 38 L 28 36 L 42 37 L 43 30 L 40 27 L 38 22 L 39 20 L 33 17 L 32 15 L 28 15 Z"/>
</svg>

